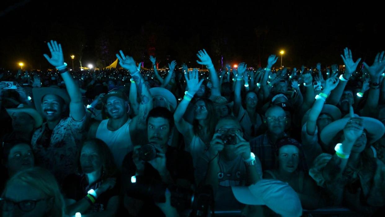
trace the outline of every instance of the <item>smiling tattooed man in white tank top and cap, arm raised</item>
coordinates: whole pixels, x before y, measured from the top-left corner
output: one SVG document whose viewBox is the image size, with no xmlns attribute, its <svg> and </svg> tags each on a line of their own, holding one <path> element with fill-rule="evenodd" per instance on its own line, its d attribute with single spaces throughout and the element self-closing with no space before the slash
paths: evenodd
<svg viewBox="0 0 385 217">
<path fill-rule="evenodd" d="M 132 119 L 129 118 L 127 114 L 129 102 L 126 94 L 113 89 L 102 98 L 109 119 L 92 124 L 88 135 L 89 138 L 103 140 L 109 146 L 119 170 L 122 167 L 124 156 L 133 150 L 132 140 L 140 138 L 139 130 L 147 128 L 146 118 L 152 108 L 152 101 L 149 100 L 151 95 L 139 72 L 140 64 L 137 68 L 132 57 L 124 56 L 123 52 L 120 52 L 121 56 L 117 54 L 120 65 L 131 72 L 134 80 L 132 85 L 137 86 L 137 92 L 141 98 L 138 115 Z"/>
</svg>

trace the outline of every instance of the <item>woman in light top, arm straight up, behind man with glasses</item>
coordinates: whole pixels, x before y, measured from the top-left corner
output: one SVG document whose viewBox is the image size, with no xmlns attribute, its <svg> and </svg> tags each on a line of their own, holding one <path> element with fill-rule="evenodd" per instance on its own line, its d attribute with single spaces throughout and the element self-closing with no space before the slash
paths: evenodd
<svg viewBox="0 0 385 217">
<path fill-rule="evenodd" d="M 249 141 L 256 137 L 256 131 L 262 124 L 261 115 L 256 112 L 258 97 L 253 91 L 246 93 L 246 109 L 243 108 L 241 103 L 241 81 L 243 80 L 242 74 L 246 71 L 247 65 L 244 63 L 238 66 L 238 76 L 236 77 L 235 90 L 234 90 L 234 115 L 238 117 L 239 123 L 241 123 L 244 131 L 244 138 Z M 247 74 L 246 74 L 247 76 Z M 247 79 L 245 76 L 244 79 Z"/>
</svg>

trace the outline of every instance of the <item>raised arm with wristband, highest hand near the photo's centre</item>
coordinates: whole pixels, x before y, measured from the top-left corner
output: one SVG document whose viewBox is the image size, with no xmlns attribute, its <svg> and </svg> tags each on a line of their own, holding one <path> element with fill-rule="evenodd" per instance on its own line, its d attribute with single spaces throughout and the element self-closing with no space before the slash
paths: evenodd
<svg viewBox="0 0 385 217">
<path fill-rule="evenodd" d="M 196 56 L 199 59 L 199 61 L 197 60 L 196 62 L 198 62 L 198 64 L 205 65 L 210 72 L 210 80 L 213 84 L 213 88 L 211 88 L 211 96 L 221 96 L 221 85 L 219 84 L 219 78 L 216 74 L 213 62 L 211 62 L 210 56 L 207 54 L 205 49 L 199 50 Z"/>
</svg>

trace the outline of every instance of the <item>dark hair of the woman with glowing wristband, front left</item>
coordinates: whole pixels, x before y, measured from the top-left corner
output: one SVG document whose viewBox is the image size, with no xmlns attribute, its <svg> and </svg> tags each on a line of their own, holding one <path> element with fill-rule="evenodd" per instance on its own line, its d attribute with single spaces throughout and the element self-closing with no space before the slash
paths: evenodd
<svg viewBox="0 0 385 217">
<path fill-rule="evenodd" d="M 80 155 L 82 152 L 82 149 L 85 145 L 92 144 L 96 151 L 99 153 L 100 158 L 102 158 L 102 170 L 103 170 L 103 177 L 101 177 L 103 180 L 114 177 L 114 175 L 117 173 L 117 167 L 114 162 L 114 156 L 111 153 L 110 148 L 104 143 L 104 141 L 99 139 L 92 139 L 92 140 L 86 140 L 83 142 L 83 145 L 80 147 L 78 156 L 77 156 L 77 173 L 83 174 L 82 167 L 80 165 Z"/>
</svg>

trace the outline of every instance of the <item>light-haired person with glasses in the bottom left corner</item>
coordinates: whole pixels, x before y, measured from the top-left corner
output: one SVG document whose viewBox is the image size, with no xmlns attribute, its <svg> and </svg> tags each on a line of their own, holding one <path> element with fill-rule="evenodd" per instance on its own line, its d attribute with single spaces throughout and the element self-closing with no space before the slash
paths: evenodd
<svg viewBox="0 0 385 217">
<path fill-rule="evenodd" d="M 3 217 L 62 217 L 64 199 L 54 175 L 33 167 L 13 175 L 0 198 Z"/>
</svg>

